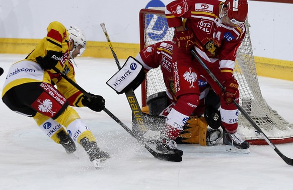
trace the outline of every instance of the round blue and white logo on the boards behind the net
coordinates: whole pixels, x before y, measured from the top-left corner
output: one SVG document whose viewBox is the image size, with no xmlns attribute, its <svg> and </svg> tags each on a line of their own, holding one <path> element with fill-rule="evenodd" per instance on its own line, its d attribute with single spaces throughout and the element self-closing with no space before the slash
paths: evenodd
<svg viewBox="0 0 293 190">
<path fill-rule="evenodd" d="M 145 9 L 149 8 L 165 8 L 165 5 L 160 0 L 152 0 L 145 6 Z M 146 34 L 152 40 L 162 40 L 168 32 L 167 19 L 165 17 L 157 16 L 154 14 L 146 14 L 145 18 Z"/>
</svg>

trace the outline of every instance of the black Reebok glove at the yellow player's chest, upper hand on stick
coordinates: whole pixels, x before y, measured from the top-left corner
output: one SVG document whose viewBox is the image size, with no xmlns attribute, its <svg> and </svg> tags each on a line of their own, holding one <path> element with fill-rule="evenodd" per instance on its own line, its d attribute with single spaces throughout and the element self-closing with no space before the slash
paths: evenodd
<svg viewBox="0 0 293 190">
<path fill-rule="evenodd" d="M 42 69 L 52 69 L 56 66 L 59 60 L 62 58 L 62 52 L 48 51 L 44 57 L 36 57 L 37 62 L 41 65 Z"/>
</svg>

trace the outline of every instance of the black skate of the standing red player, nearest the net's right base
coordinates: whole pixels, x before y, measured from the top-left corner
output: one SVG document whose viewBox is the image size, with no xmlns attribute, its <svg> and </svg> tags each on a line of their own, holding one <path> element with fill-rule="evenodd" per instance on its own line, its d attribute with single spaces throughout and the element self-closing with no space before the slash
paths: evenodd
<svg viewBox="0 0 293 190">
<path fill-rule="evenodd" d="M 237 152 L 242 154 L 249 153 L 249 143 L 242 140 L 238 133 L 228 133 L 224 131 L 223 133 L 224 144 L 227 145 L 226 150 L 228 152 Z"/>
</svg>

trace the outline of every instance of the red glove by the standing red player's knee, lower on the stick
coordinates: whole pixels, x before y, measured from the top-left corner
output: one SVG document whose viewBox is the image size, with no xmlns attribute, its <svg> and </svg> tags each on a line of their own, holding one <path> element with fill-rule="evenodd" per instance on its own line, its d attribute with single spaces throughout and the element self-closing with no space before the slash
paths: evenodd
<svg viewBox="0 0 293 190">
<path fill-rule="evenodd" d="M 227 105 L 232 104 L 238 91 L 238 82 L 234 78 L 230 78 L 225 81 L 224 86 L 226 87 L 226 91 L 222 94 L 222 96 Z"/>
</svg>

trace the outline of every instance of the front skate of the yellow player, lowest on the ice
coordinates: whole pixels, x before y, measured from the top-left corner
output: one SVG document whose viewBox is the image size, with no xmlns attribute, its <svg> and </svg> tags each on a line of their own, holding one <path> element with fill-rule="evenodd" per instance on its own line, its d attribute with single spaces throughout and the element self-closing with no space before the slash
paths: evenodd
<svg viewBox="0 0 293 190">
<path fill-rule="evenodd" d="M 95 141 L 89 141 L 89 139 L 85 137 L 81 139 L 80 142 L 96 168 L 103 167 L 107 164 L 110 155 L 102 151 Z"/>
</svg>

